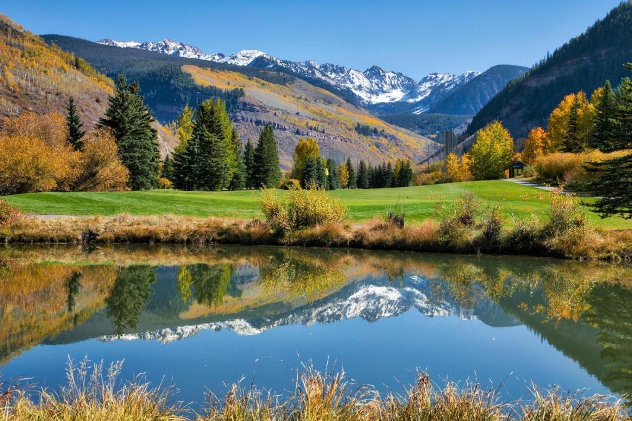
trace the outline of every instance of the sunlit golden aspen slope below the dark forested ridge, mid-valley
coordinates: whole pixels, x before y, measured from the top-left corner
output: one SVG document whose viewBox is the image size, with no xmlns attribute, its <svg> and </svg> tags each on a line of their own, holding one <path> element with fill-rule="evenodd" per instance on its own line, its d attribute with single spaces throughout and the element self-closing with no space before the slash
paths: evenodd
<svg viewBox="0 0 632 421">
<path fill-rule="evenodd" d="M 295 79 L 291 83 L 270 83 L 237 71 L 185 65 L 196 83 L 220 89 L 239 87 L 245 95 L 231 112 L 231 119 L 242 140 L 253 141 L 261 126 L 272 125 L 279 142 L 283 168 L 289 168 L 299 138 L 315 138 L 325 157 L 343 161 L 365 159 L 370 162 L 408 158 L 418 162 L 437 145 L 425 137 L 384 123 L 367 111 L 331 92 Z M 356 125 L 377 128 L 379 134 L 365 136 Z"/>
</svg>

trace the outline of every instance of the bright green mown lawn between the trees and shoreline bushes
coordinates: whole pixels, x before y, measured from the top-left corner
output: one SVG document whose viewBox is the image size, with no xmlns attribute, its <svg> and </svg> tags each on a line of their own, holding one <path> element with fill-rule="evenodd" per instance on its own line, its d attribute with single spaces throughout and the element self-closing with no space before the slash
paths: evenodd
<svg viewBox="0 0 632 421">
<path fill-rule="evenodd" d="M 368 190 L 334 190 L 348 206 L 349 221 L 371 219 L 386 215 L 389 206 L 403 204 L 406 221 L 421 221 L 432 217 L 436 200 L 453 202 L 465 191 L 474 192 L 486 204 L 501 204 L 503 213 L 510 210 L 518 217 L 530 214 L 545 218 L 549 207 L 549 192 L 507 181 L 468 181 L 432 186 L 379 188 Z M 284 193 L 281 191 L 281 193 Z M 68 215 L 135 215 L 180 214 L 188 216 L 217 216 L 252 219 L 262 217 L 257 205 L 258 192 L 180 192 L 178 190 L 150 190 L 149 192 L 99 192 L 99 193 L 30 193 L 5 197 L 25 212 L 32 214 Z M 592 199 L 584 199 L 592 202 Z M 632 221 L 619 217 L 600 219 L 590 211 L 590 221 L 605 228 L 632 229 Z"/>
</svg>

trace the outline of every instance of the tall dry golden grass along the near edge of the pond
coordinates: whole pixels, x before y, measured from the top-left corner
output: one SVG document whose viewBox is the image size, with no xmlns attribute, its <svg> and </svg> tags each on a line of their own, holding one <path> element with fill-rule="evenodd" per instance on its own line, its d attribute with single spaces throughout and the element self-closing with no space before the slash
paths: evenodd
<svg viewBox="0 0 632 421">
<path fill-rule="evenodd" d="M 222 396 L 193 410 L 174 403 L 173 387 L 155 387 L 137 376 L 118 381 L 122 362 L 68 363 L 67 384 L 58 393 L 28 393 L 0 381 L 0 420 L 630 420 L 623 400 L 584 396 L 580 391 L 529 388 L 525 400 L 506 403 L 497 389 L 474 382 L 434 384 L 418 372 L 401 394 L 380 396 L 358 386 L 344 371 L 320 372 L 312 365 L 296 374 L 295 390 L 272 394 L 232 384 Z M 177 398 L 177 395 L 175 396 Z"/>
</svg>

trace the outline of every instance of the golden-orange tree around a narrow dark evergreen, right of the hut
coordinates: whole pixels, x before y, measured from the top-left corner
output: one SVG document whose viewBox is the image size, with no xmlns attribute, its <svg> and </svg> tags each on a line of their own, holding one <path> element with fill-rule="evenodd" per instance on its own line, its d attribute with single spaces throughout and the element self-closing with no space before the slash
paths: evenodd
<svg viewBox="0 0 632 421">
<path fill-rule="evenodd" d="M 576 121 L 571 121 L 573 107 L 576 107 Z M 578 143 L 588 144 L 595 130 L 594 121 L 595 106 L 588 102 L 586 94 L 580 91 L 577 94 L 566 95 L 549 115 L 547 125 L 548 152 L 563 150 L 569 135 L 576 138 Z M 569 130 L 573 133 L 569 133 Z"/>
</svg>

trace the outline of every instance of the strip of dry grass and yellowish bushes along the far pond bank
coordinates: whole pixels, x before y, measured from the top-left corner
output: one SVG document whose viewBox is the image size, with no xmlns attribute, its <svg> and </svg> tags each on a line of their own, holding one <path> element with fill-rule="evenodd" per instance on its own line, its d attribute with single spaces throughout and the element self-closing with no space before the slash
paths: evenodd
<svg viewBox="0 0 632 421">
<path fill-rule="evenodd" d="M 632 233 L 588 224 L 578 199 L 561 190 L 550 195 L 545 221 L 506 219 L 499 207 L 472 193 L 453 204 L 438 201 L 434 219 L 415 225 L 405 224 L 404 209 L 397 206 L 381 219 L 346 223 L 344 204 L 320 188 L 287 195 L 264 190 L 259 205 L 265 221 L 128 214 L 39 219 L 22 216 L 0 200 L 0 243 L 216 243 L 632 259 Z"/>
</svg>

